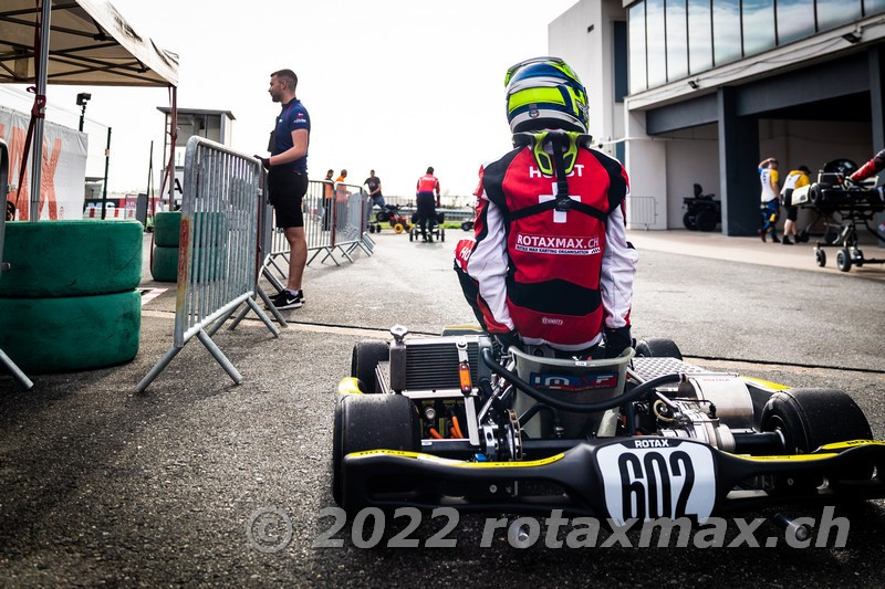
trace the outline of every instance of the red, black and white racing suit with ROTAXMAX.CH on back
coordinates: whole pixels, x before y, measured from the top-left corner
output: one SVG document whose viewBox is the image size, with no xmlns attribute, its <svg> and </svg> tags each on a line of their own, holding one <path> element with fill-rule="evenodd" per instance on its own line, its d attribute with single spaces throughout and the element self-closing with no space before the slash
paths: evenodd
<svg viewBox="0 0 885 589">
<path fill-rule="evenodd" d="M 479 171 L 476 240 L 456 249 L 465 296 L 491 334 L 516 330 L 524 344 L 579 351 L 598 345 L 605 330 L 621 339 L 610 345 L 620 353 L 629 345 L 637 259 L 626 240 L 627 173 L 579 137 L 582 145 L 563 164 L 563 186 L 560 173 L 539 169 L 533 146 L 543 141 L 538 157 L 555 159 L 552 144 L 564 150 L 565 134 L 516 140 L 514 150 Z M 571 202 L 556 206 L 564 200 Z"/>
</svg>

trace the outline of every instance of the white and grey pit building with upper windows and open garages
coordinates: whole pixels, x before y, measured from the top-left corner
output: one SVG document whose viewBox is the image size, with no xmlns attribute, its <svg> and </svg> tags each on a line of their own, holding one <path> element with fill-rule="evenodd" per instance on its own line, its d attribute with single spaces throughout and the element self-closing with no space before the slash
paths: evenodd
<svg viewBox="0 0 885 589">
<path fill-rule="evenodd" d="M 759 228 L 760 160 L 814 176 L 885 148 L 884 36 L 885 0 L 581 0 L 549 25 L 596 143 L 654 199 L 648 227 L 683 227 L 697 182 L 728 235 Z"/>
</svg>

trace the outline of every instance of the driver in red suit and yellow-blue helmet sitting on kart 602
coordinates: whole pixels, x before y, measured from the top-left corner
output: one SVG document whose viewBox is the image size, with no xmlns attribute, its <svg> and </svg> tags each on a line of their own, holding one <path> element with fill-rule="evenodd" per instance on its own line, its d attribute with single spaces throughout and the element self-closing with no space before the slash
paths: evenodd
<svg viewBox="0 0 885 589">
<path fill-rule="evenodd" d="M 521 62 L 504 85 L 514 148 L 480 167 L 476 239 L 455 252 L 465 297 L 504 345 L 616 357 L 632 345 L 637 260 L 627 173 L 591 149 L 586 91 L 564 61 Z"/>
</svg>

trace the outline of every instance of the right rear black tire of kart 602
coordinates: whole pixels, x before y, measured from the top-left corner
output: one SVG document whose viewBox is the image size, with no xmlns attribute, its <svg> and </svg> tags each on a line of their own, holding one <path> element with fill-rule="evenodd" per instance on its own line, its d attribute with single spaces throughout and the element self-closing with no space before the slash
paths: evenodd
<svg viewBox="0 0 885 589">
<path fill-rule="evenodd" d="M 760 429 L 779 431 L 788 454 L 808 454 L 825 444 L 873 438 L 870 423 L 857 403 L 834 389 L 775 392 L 762 409 Z M 847 471 L 824 474 L 831 484 L 870 478 L 873 464 L 853 464 Z M 816 477 L 803 483 L 818 485 L 820 481 Z"/>
</svg>

